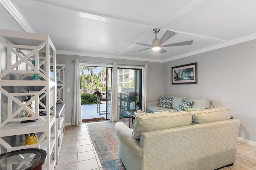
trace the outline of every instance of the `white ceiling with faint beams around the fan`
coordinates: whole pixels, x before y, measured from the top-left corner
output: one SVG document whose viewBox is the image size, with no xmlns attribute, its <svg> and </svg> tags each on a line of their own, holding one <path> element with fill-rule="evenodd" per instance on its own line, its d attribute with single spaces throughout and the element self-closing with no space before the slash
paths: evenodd
<svg viewBox="0 0 256 170">
<path fill-rule="evenodd" d="M 2 3 L 2 2 L 1 2 Z M 255 0 L 9 0 L 26 27 L 50 35 L 57 53 L 166 62 L 256 39 Z M 3 3 L 2 3 L 3 4 Z M 160 54 L 124 40 L 151 44 L 153 28 L 177 34 Z"/>
</svg>

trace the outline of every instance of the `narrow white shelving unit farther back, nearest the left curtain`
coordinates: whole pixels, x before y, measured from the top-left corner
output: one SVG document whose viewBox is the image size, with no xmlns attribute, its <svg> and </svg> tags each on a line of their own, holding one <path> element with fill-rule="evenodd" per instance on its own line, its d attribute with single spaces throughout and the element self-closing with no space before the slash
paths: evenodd
<svg viewBox="0 0 256 170">
<path fill-rule="evenodd" d="M 53 70 L 53 65 L 50 65 Z M 65 131 L 65 64 L 56 64 L 57 100 L 56 103 L 56 134 L 57 134 L 57 156 L 56 163 L 60 156 L 62 139 Z"/>
</svg>

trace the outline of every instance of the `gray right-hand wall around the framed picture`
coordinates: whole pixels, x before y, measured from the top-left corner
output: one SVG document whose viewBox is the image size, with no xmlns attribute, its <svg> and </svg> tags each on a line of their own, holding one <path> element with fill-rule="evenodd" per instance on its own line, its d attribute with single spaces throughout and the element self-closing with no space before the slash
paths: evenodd
<svg viewBox="0 0 256 170">
<path fill-rule="evenodd" d="M 198 63 L 198 84 L 172 85 L 171 69 Z M 164 94 L 209 98 L 241 120 L 239 137 L 256 142 L 256 40 L 164 63 Z"/>
</svg>

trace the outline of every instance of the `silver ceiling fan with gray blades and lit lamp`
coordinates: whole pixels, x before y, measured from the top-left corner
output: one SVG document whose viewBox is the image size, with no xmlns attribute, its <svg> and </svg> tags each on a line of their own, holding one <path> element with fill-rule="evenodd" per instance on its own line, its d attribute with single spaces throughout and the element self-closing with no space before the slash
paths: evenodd
<svg viewBox="0 0 256 170">
<path fill-rule="evenodd" d="M 140 44 L 140 45 L 145 45 L 148 46 L 150 48 L 146 48 L 146 49 L 141 49 L 141 50 L 137 50 L 137 51 L 143 51 L 143 50 L 148 50 L 148 49 L 152 49 L 154 51 L 158 51 L 159 53 L 165 53 L 166 50 L 162 49 L 162 47 L 172 47 L 172 46 L 182 46 L 182 45 L 191 45 L 193 43 L 193 40 L 191 41 L 184 41 L 184 42 L 180 42 L 180 43 L 174 43 L 174 44 L 168 44 L 168 45 L 162 45 L 165 41 L 167 41 L 168 39 L 172 38 L 176 33 L 173 31 L 169 31 L 167 30 L 164 35 L 162 36 L 162 38 L 159 40 L 157 38 L 157 33 L 160 31 L 159 28 L 154 28 L 152 29 L 152 31 L 156 34 L 156 38 L 153 39 L 152 41 L 152 45 L 149 44 L 143 44 L 143 43 L 137 43 L 137 42 L 133 42 L 133 41 L 128 41 L 125 40 L 127 42 L 130 43 L 135 43 L 135 44 Z M 131 53 L 136 52 L 136 51 L 132 51 Z"/>
</svg>

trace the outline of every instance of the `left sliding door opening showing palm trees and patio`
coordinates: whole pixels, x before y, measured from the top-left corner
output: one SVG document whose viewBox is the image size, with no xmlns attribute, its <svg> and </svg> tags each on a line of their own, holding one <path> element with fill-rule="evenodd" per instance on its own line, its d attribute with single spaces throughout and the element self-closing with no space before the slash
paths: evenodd
<svg viewBox="0 0 256 170">
<path fill-rule="evenodd" d="M 111 80 L 110 67 L 80 66 L 83 122 L 109 119 Z"/>
</svg>

